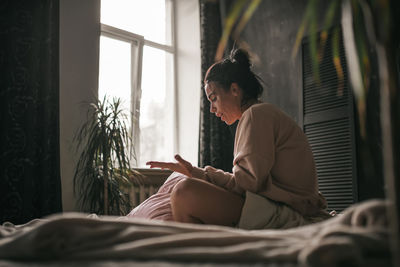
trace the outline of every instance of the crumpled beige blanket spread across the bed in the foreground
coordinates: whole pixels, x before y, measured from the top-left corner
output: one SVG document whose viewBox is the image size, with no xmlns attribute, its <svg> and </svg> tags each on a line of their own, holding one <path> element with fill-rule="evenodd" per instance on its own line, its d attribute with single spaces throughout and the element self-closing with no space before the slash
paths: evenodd
<svg viewBox="0 0 400 267">
<path fill-rule="evenodd" d="M 326 221 L 287 230 L 64 213 L 0 226 L 3 260 L 163 260 L 365 266 L 390 257 L 388 203 L 370 200 Z"/>
</svg>

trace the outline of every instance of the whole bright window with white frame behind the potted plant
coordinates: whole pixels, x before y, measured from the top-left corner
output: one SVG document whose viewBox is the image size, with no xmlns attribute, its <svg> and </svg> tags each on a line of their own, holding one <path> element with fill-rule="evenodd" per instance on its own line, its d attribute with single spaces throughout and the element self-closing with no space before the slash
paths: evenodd
<svg viewBox="0 0 400 267">
<path fill-rule="evenodd" d="M 136 167 L 176 152 L 172 0 L 101 0 L 99 98 L 129 111 Z"/>
</svg>

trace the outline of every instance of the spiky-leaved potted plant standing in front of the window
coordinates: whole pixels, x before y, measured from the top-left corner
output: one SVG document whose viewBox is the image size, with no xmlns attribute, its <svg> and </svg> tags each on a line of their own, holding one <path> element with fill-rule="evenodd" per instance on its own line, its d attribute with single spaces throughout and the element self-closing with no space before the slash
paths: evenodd
<svg viewBox="0 0 400 267">
<path fill-rule="evenodd" d="M 121 100 L 105 96 L 90 103 L 87 121 L 74 137 L 80 153 L 74 194 L 85 212 L 124 215 L 132 208 L 123 188 L 138 184 L 141 175 L 130 168 L 134 153 L 126 118 Z"/>
</svg>

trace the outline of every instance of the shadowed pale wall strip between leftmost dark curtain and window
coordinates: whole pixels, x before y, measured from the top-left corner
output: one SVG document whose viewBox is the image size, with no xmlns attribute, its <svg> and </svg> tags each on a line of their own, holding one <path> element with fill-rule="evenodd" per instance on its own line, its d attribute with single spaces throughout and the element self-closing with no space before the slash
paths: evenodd
<svg viewBox="0 0 400 267">
<path fill-rule="evenodd" d="M 60 168 L 64 211 L 78 210 L 73 196 L 78 153 L 72 139 L 86 118 L 82 102 L 97 95 L 100 0 L 60 1 Z"/>
</svg>

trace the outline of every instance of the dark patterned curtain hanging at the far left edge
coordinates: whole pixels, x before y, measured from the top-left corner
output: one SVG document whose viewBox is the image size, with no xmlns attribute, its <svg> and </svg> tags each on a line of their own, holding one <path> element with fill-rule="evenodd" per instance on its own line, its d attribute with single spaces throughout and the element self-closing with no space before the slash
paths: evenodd
<svg viewBox="0 0 400 267">
<path fill-rule="evenodd" d="M 0 222 L 60 212 L 59 0 L 0 4 Z"/>
</svg>

